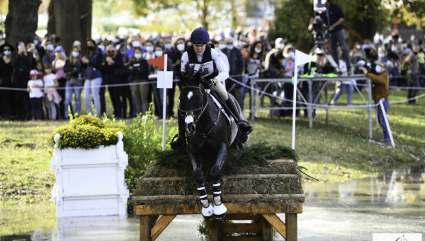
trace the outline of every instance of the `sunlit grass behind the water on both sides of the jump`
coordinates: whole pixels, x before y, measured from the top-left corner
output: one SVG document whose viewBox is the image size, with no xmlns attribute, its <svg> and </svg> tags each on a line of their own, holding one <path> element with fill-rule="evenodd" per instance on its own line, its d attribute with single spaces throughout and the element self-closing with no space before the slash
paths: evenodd
<svg viewBox="0 0 425 241">
<path fill-rule="evenodd" d="M 406 99 L 406 96 L 406 91 L 392 91 L 390 101 Z M 354 98 L 353 103 L 361 103 L 357 94 Z M 339 103 L 343 104 L 345 99 L 346 95 L 341 96 Z M 246 98 L 245 106 L 249 106 L 247 101 Z M 320 181 L 377 176 L 395 167 L 423 164 L 424 152 L 421 149 L 425 150 L 425 101 L 419 99 L 418 103 L 419 106 L 390 105 L 389 121 L 395 138 L 395 149 L 368 142 L 368 113 L 364 109 L 330 110 L 328 123 L 325 120 L 325 111 L 317 111 L 317 118 L 314 118 L 314 127 L 311 129 L 308 128 L 307 118 L 297 118 L 295 150 L 300 157 L 299 164 L 307 167 L 307 173 Z M 112 111 L 109 106 L 110 102 L 108 111 Z M 268 145 L 290 147 L 291 118 L 268 118 L 267 111 L 260 111 L 256 116 L 259 118 L 251 122 L 254 133 L 250 136 L 248 145 L 265 142 Z M 5 223 L 16 221 L 13 215 L 9 216 L 10 213 L 25 213 L 28 208 L 37 209 L 39 206 L 47 210 L 42 215 L 28 217 L 28 225 L 20 227 L 20 233 L 32 231 L 31 223 L 40 223 L 55 216 L 50 211 L 50 191 L 55 183 L 55 174 L 50 170 L 53 150 L 48 146 L 47 136 L 65 123 L 67 122 L 0 121 L 0 235 L 16 232 L 13 228 L 3 228 Z M 130 120 L 126 123 L 129 125 Z M 158 120 L 157 124 L 162 123 Z M 376 125 L 375 110 L 373 126 L 373 137 L 379 140 L 382 132 Z M 405 148 L 402 145 L 414 148 Z M 416 161 L 411 155 L 421 160 Z M 34 219 L 30 220 L 31 218 Z M 55 225 L 52 222 L 45 225 Z"/>
</svg>

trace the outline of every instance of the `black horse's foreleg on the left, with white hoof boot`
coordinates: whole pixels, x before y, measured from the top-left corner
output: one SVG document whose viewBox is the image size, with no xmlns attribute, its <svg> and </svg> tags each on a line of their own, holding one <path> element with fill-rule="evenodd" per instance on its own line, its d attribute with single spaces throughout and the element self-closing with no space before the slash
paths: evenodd
<svg viewBox="0 0 425 241">
<path fill-rule="evenodd" d="M 203 173 L 202 167 L 199 162 L 196 161 L 195 157 L 189 153 L 189 158 L 191 159 L 193 167 L 193 179 L 196 182 L 196 189 L 198 189 L 198 195 L 200 199 L 200 204 L 202 205 L 202 215 L 206 220 L 209 220 L 214 217 L 214 210 L 210 205 L 208 200 L 207 191 L 205 190 L 205 184 L 203 182 Z"/>
</svg>

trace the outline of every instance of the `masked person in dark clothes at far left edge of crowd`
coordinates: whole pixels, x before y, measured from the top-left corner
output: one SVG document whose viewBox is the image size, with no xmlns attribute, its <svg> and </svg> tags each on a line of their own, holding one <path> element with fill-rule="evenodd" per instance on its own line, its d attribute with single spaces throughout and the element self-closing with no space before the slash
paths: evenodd
<svg viewBox="0 0 425 241">
<path fill-rule="evenodd" d="M 8 43 L 4 43 L 0 46 L 0 87 L 10 88 L 12 87 L 12 52 L 15 48 Z M 13 109 L 11 108 L 15 97 L 16 91 L 0 90 L 0 103 L 3 103 L 0 108 L 0 119 L 11 118 Z"/>
</svg>

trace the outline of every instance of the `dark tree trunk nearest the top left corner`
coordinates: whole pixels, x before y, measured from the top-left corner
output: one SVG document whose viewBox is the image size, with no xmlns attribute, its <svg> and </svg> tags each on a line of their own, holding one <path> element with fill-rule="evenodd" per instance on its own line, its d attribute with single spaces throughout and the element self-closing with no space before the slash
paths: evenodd
<svg viewBox="0 0 425 241">
<path fill-rule="evenodd" d="M 41 0 L 13 0 L 8 2 L 5 21 L 6 43 L 16 45 L 19 40 L 32 42 L 38 26 L 38 7 Z"/>
</svg>

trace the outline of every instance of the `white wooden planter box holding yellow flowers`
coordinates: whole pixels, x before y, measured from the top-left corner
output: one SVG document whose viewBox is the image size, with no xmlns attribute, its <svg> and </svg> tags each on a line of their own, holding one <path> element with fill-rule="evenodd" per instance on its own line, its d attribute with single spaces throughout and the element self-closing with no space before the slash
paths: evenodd
<svg viewBox="0 0 425 241">
<path fill-rule="evenodd" d="M 55 135 L 55 142 L 60 135 Z M 129 192 L 124 182 L 128 155 L 124 152 L 123 133 L 117 145 L 94 150 L 55 145 L 51 161 L 56 174 L 52 200 L 57 217 L 125 215 Z"/>
</svg>

